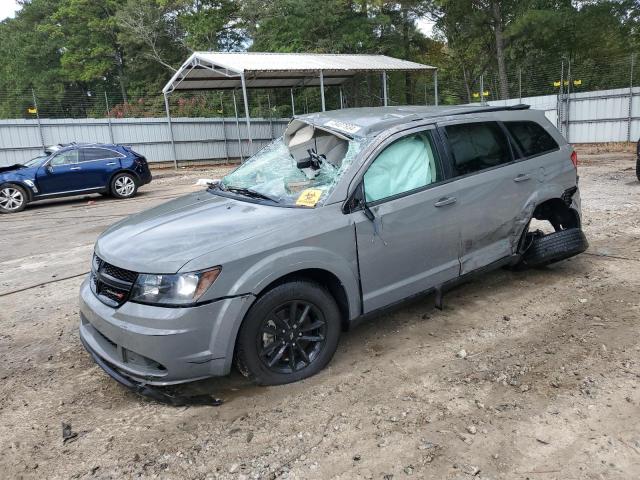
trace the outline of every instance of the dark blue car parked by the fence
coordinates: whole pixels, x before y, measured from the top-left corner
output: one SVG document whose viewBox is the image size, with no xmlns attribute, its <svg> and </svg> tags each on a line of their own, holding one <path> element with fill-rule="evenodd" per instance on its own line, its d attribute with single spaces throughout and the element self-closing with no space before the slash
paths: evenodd
<svg viewBox="0 0 640 480">
<path fill-rule="evenodd" d="M 151 181 L 146 158 L 129 147 L 56 145 L 25 164 L 0 167 L 0 213 L 16 213 L 29 202 L 101 193 L 131 198 Z"/>
</svg>

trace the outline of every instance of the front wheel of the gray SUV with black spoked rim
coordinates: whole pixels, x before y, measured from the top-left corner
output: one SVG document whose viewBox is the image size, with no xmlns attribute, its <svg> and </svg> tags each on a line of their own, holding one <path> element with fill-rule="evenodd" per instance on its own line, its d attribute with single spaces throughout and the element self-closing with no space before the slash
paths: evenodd
<svg viewBox="0 0 640 480">
<path fill-rule="evenodd" d="M 329 363 L 340 332 L 340 310 L 329 291 L 292 280 L 266 292 L 249 310 L 238 333 L 236 366 L 259 385 L 297 382 Z"/>
</svg>

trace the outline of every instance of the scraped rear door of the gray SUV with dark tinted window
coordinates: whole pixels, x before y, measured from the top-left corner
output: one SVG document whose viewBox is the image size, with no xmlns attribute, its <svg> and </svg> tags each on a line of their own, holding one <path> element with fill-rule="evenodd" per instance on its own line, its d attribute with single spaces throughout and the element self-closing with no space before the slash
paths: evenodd
<svg viewBox="0 0 640 480">
<path fill-rule="evenodd" d="M 499 122 L 441 126 L 449 150 L 450 178 L 460 203 L 461 274 L 508 257 L 517 249 L 535 172 L 518 162 Z"/>
</svg>

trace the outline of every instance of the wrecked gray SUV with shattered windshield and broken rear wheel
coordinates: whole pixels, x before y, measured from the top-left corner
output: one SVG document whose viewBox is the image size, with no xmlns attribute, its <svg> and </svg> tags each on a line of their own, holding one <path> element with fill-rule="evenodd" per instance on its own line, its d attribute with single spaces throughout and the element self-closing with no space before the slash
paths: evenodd
<svg viewBox="0 0 640 480">
<path fill-rule="evenodd" d="M 374 312 L 425 292 L 440 305 L 470 274 L 584 251 L 576 167 L 524 105 L 297 117 L 208 189 L 100 236 L 82 342 L 137 385 L 234 362 L 260 384 L 306 378 Z"/>
</svg>

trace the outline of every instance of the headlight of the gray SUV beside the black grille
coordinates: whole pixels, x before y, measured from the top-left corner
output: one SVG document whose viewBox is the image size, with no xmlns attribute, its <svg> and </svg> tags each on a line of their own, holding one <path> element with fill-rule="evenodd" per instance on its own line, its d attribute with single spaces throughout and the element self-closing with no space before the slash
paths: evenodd
<svg viewBox="0 0 640 480">
<path fill-rule="evenodd" d="M 220 275 L 220 267 L 177 275 L 141 273 L 131 290 L 130 300 L 160 305 L 196 303 Z"/>
</svg>

